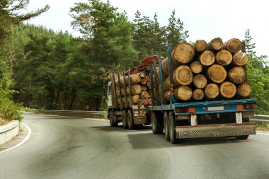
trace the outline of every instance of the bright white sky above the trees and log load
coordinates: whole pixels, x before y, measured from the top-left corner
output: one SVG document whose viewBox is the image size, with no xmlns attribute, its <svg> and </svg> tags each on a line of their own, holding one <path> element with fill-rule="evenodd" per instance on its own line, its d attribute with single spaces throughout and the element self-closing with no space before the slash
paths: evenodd
<svg viewBox="0 0 269 179">
<path fill-rule="evenodd" d="M 50 5 L 49 11 L 29 21 L 36 25 L 45 25 L 52 30 L 68 30 L 78 35 L 71 28 L 69 9 L 76 2 L 87 0 L 30 0 L 28 10 Z M 157 13 L 161 25 L 168 25 L 171 12 L 176 10 L 176 17 L 181 18 L 184 29 L 189 30 L 188 40 L 203 39 L 209 42 L 214 37 L 227 41 L 232 37 L 244 39 L 247 28 L 256 43 L 258 55 L 269 56 L 269 1 L 265 0 L 110 0 L 110 4 L 118 7 L 118 11 L 127 12 L 130 21 L 135 18 L 137 10 L 143 16 L 153 19 Z"/>
</svg>

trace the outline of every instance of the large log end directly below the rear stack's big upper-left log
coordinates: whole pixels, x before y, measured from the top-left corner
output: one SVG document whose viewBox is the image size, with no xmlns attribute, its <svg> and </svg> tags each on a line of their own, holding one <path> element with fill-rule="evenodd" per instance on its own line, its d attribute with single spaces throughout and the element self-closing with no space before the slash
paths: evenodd
<svg viewBox="0 0 269 179">
<path fill-rule="evenodd" d="M 190 67 L 181 65 L 173 71 L 175 85 L 189 85 L 193 81 L 193 72 Z"/>
</svg>

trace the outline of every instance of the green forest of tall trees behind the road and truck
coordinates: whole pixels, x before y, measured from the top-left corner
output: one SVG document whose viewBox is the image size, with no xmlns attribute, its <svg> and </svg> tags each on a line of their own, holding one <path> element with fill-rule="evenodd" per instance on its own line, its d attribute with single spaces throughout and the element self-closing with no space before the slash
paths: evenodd
<svg viewBox="0 0 269 179">
<path fill-rule="evenodd" d="M 68 32 L 23 22 L 47 11 L 48 6 L 18 14 L 16 10 L 28 5 L 26 0 L 0 2 L 1 113 L 21 106 L 106 110 L 102 88 L 111 71 L 135 67 L 141 59 L 154 54 L 166 57 L 166 45 L 190 42 L 176 11 L 162 26 L 156 13 L 151 18 L 137 11 L 135 19 L 128 21 L 127 14 L 109 1 L 89 0 L 70 9 L 71 25 L 82 35 L 73 37 Z M 269 115 L 268 57 L 256 54 L 249 29 L 242 33 L 249 58 L 251 98 L 258 100 L 256 113 Z M 9 113 L 7 116 L 14 117 Z"/>
</svg>

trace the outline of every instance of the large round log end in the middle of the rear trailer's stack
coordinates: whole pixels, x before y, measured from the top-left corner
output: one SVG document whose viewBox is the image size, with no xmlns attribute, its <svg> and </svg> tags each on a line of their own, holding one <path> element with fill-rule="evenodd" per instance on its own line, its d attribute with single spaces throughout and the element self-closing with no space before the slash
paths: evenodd
<svg viewBox="0 0 269 179">
<path fill-rule="evenodd" d="M 227 71 L 219 64 L 213 64 L 207 69 L 207 77 L 214 83 L 222 83 L 227 77 Z"/>
</svg>

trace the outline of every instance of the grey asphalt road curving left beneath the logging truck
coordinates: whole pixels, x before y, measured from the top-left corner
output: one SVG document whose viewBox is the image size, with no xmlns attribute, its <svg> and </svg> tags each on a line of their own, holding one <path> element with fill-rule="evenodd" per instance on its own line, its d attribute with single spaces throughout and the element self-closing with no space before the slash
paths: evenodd
<svg viewBox="0 0 269 179">
<path fill-rule="evenodd" d="M 269 136 L 166 142 L 149 127 L 24 114 L 32 134 L 0 153 L 0 178 L 269 178 Z"/>
</svg>

